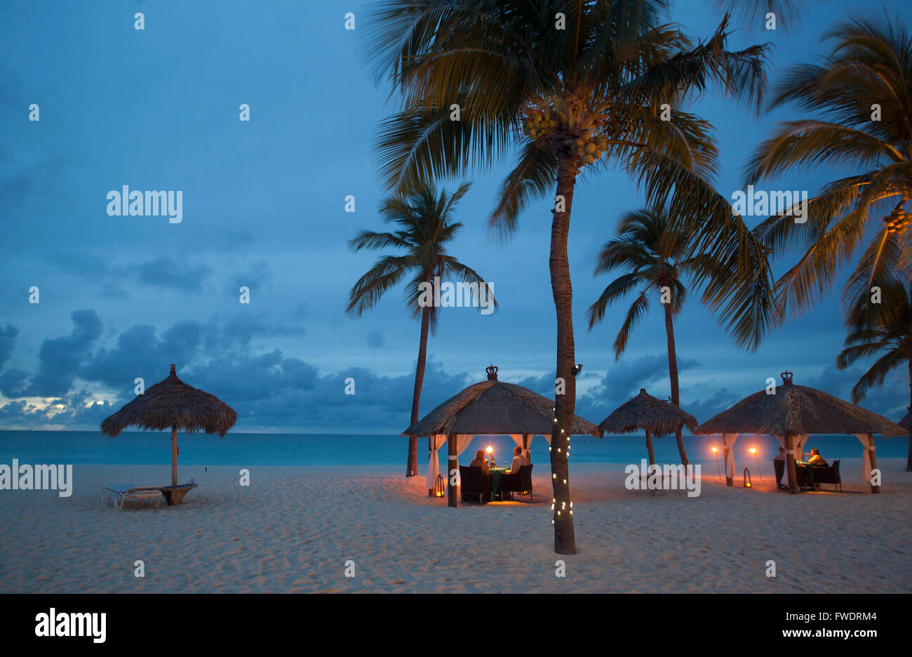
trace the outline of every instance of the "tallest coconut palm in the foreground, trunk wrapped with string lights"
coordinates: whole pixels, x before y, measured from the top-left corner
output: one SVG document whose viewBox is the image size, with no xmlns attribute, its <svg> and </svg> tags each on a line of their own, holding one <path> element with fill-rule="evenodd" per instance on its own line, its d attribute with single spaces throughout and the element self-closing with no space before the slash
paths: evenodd
<svg viewBox="0 0 912 657">
<path fill-rule="evenodd" d="M 742 344 L 766 316 L 765 252 L 705 179 L 716 149 L 710 125 L 679 109 L 718 84 L 759 108 L 764 47 L 725 49 L 727 16 L 694 45 L 663 25 L 665 0 L 384 0 L 372 16 L 369 55 L 401 109 L 380 126 L 377 160 L 390 189 L 486 170 L 518 153 L 491 225 L 515 230 L 534 198 L 551 195 L 552 296 L 557 316 L 551 451 L 554 550 L 575 553 L 566 459 L 575 411 L 572 288 L 567 235 L 576 179 L 622 169 L 696 231 L 694 247 L 724 255 L 731 276 L 710 284 Z M 668 104 L 668 111 L 663 105 Z M 665 120 L 668 119 L 668 120 Z M 558 389 L 559 390 L 559 389 Z M 555 390 L 556 391 L 556 390 Z"/>
</svg>

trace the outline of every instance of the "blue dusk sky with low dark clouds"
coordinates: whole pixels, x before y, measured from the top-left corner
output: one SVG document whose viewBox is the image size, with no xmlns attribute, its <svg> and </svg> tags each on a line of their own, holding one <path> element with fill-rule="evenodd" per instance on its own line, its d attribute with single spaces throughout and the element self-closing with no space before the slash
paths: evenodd
<svg viewBox="0 0 912 657">
<path fill-rule="evenodd" d="M 347 294 L 377 255 L 347 242 L 385 230 L 371 143 L 396 109 L 365 55 L 366 2 L 0 3 L 0 429 L 94 430 L 171 363 L 238 412 L 236 432 L 400 433 L 409 423 L 419 323 L 401 289 L 359 318 Z M 884 3 L 907 16 L 902 0 Z M 741 19 L 731 48 L 769 43 L 772 81 L 824 52 L 834 20 L 877 6 L 809 0 L 775 31 Z M 135 29 L 134 14 L 144 15 Z M 355 15 L 346 30 L 345 15 Z M 708 37 L 720 21 L 703 0 L 669 21 Z M 39 120 L 29 120 L 37 104 Z M 241 105 L 249 121 L 240 120 Z M 716 130 L 720 193 L 744 189 L 744 163 L 794 107 L 754 116 L 711 91 L 690 110 Z M 550 203 L 533 203 L 502 243 L 487 227 L 509 159 L 471 182 L 454 219 L 451 254 L 493 284 L 499 310 L 442 308 L 428 343 L 421 414 L 482 381 L 554 392 L 554 304 L 548 274 Z M 814 169 L 765 189 L 811 195 L 851 170 Z M 180 191 L 168 216 L 109 215 L 111 191 Z M 355 212 L 346 212 L 354 196 Z M 664 320 L 653 304 L 615 360 L 629 304 L 586 328 L 586 308 L 611 280 L 596 255 L 643 196 L 624 172 L 578 183 L 569 255 L 574 287 L 577 413 L 600 422 L 640 388 L 670 393 Z M 760 218 L 748 218 L 749 224 Z M 797 254 L 781 254 L 782 273 Z M 847 274 L 848 269 L 845 270 Z M 700 422 L 782 370 L 848 399 L 870 365 L 836 370 L 845 330 L 839 284 L 760 349 L 736 347 L 692 294 L 676 323 L 680 400 Z M 38 303 L 30 292 L 38 288 Z M 249 303 L 241 303 L 241 287 Z M 346 380 L 355 394 L 346 394 Z M 866 408 L 898 420 L 902 371 Z"/>
</svg>

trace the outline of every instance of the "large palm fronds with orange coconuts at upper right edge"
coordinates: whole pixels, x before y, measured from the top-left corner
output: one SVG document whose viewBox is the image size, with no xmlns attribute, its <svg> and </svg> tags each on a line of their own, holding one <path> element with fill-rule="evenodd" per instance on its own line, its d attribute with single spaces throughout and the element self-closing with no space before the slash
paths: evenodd
<svg viewBox="0 0 912 657">
<path fill-rule="evenodd" d="M 905 209 L 912 198 L 912 38 L 899 16 L 886 15 L 852 18 L 824 38 L 834 39 L 829 54 L 791 69 L 771 101 L 772 108 L 794 101 L 814 118 L 782 122 L 754 152 L 747 177 L 829 163 L 858 172 L 824 185 L 807 203 L 806 222 L 785 213 L 756 232 L 775 252 L 804 252 L 776 282 L 779 321 L 823 298 L 864 245 L 845 284 L 846 323 L 861 312 L 868 327 L 886 326 L 907 303 L 903 287 L 885 287 L 879 305 L 866 300 L 876 280 L 912 281 L 912 214 Z"/>
</svg>

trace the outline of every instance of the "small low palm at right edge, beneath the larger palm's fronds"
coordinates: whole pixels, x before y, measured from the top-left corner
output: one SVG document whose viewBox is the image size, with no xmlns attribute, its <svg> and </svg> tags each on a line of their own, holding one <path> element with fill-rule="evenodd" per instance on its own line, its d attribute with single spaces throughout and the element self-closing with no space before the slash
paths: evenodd
<svg viewBox="0 0 912 657">
<path fill-rule="evenodd" d="M 895 297 L 903 299 L 897 308 L 892 308 L 891 319 L 870 326 L 870 314 L 866 302 L 857 304 L 850 314 L 852 328 L 845 339 L 845 349 L 836 357 L 836 367 L 840 370 L 852 365 L 856 360 L 880 354 L 855 383 L 852 388 L 852 401 L 858 403 L 865 398 L 872 386 L 883 384 L 886 375 L 901 365 L 906 365 L 909 377 L 909 409 L 912 409 L 912 299 L 905 293 L 902 281 L 889 281 L 887 286 L 895 287 Z M 877 286 L 883 289 L 885 284 Z M 912 435 L 909 436 L 909 448 L 906 460 L 907 472 L 912 472 Z"/>
</svg>

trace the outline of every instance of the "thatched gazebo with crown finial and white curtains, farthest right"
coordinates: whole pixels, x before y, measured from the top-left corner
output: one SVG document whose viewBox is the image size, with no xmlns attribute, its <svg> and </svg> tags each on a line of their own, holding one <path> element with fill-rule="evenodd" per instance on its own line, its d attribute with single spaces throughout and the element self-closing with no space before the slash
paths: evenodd
<svg viewBox="0 0 912 657">
<path fill-rule="evenodd" d="M 848 401 L 823 391 L 794 385 L 792 372 L 782 372 L 782 386 L 775 393 L 766 390 L 754 392 L 745 397 L 728 411 L 720 412 L 711 420 L 697 427 L 696 433 L 721 433 L 731 437 L 731 448 L 738 433 L 763 433 L 776 436 L 785 447 L 785 464 L 789 476 L 789 492 L 797 493 L 795 479 L 795 443 L 803 444 L 810 433 L 855 433 L 865 447 L 865 476 L 870 477 L 876 468 L 874 434 L 885 436 L 904 435 L 905 429 L 890 422 L 876 412 L 867 411 Z M 726 475 L 733 474 L 734 464 L 725 463 Z M 731 476 L 729 476 L 731 485 Z M 871 492 L 879 492 L 871 485 Z"/>
</svg>

